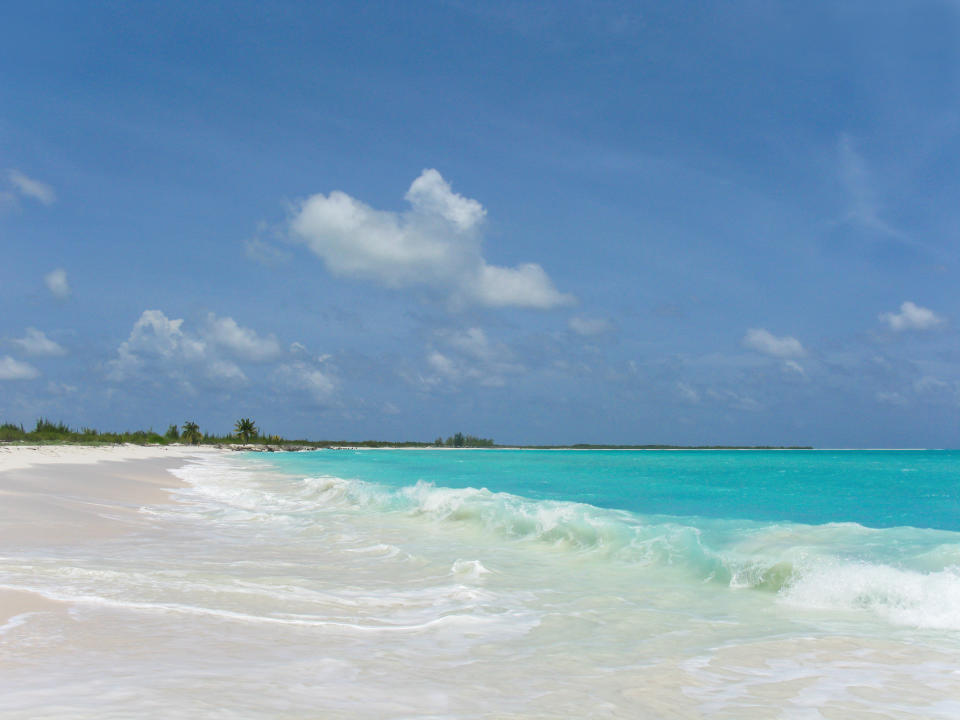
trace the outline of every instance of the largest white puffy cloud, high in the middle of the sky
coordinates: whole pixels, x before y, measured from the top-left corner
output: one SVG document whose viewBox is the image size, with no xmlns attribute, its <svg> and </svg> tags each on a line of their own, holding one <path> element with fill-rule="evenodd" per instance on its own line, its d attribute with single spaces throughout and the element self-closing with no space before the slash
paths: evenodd
<svg viewBox="0 0 960 720">
<path fill-rule="evenodd" d="M 340 191 L 307 198 L 290 220 L 295 240 L 330 272 L 386 287 L 432 287 L 454 304 L 549 309 L 574 301 L 540 265 L 490 265 L 481 252 L 486 210 L 436 170 L 410 186 L 406 212 L 376 210 Z"/>
</svg>

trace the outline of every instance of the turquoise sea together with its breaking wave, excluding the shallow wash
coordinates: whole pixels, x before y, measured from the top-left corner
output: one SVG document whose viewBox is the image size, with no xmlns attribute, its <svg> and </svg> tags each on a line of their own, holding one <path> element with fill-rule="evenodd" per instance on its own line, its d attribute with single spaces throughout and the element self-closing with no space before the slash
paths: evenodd
<svg viewBox="0 0 960 720">
<path fill-rule="evenodd" d="M 261 456 L 261 458 L 264 456 Z M 323 450 L 284 494 L 511 544 L 679 571 L 783 607 L 960 630 L 956 451 Z"/>
</svg>

